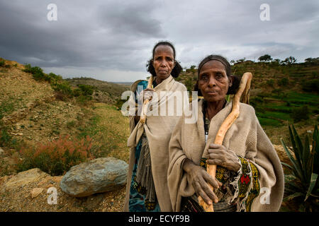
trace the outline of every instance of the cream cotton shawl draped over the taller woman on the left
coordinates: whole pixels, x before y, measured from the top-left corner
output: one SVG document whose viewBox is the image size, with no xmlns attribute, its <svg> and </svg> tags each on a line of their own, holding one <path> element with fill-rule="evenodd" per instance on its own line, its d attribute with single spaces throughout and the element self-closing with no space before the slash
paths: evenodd
<svg viewBox="0 0 319 226">
<path fill-rule="evenodd" d="M 131 88 L 131 91 L 135 92 L 136 86 L 140 81 L 136 81 Z M 181 93 L 183 95 L 186 92 L 185 85 L 174 80 L 172 76 L 169 76 L 167 79 L 159 83 L 155 88 L 155 93 L 157 93 L 158 98 L 158 112 L 163 107 L 166 106 L 166 109 L 169 108 L 168 102 L 174 99 L 174 93 Z M 160 92 L 166 92 L 167 95 L 161 97 Z M 171 91 L 171 93 L 169 93 Z M 187 100 L 182 100 L 182 103 Z M 131 96 L 130 98 L 131 104 L 135 105 L 135 100 Z M 150 105 L 155 104 L 154 100 L 150 102 Z M 181 103 L 177 103 L 174 101 L 174 109 L 177 108 L 177 105 Z M 156 105 L 152 105 L 152 110 L 155 110 Z M 181 110 L 184 109 L 184 105 L 181 105 Z M 133 167 L 135 164 L 135 148 L 138 145 L 138 141 L 140 141 L 140 137 L 142 133 L 145 132 L 147 136 L 147 140 L 150 146 L 150 156 L 152 162 L 152 174 L 155 184 L 155 191 L 157 195 L 157 200 L 159 202 L 159 207 L 161 211 L 172 211 L 172 204 L 169 198 L 169 191 L 167 186 L 167 169 L 169 165 L 169 139 L 171 138 L 172 130 L 174 129 L 175 124 L 178 119 L 181 117 L 177 115 L 177 112 L 173 116 L 154 116 L 147 115 L 147 119 L 145 124 L 135 125 L 134 117 L 130 117 L 130 137 L 128 138 L 128 147 L 130 147 L 130 160 L 128 166 L 128 179 L 127 179 L 127 188 L 126 188 L 126 196 L 125 196 L 125 205 L 124 211 L 128 211 L 128 202 L 130 196 L 130 183 L 133 174 Z"/>
</svg>

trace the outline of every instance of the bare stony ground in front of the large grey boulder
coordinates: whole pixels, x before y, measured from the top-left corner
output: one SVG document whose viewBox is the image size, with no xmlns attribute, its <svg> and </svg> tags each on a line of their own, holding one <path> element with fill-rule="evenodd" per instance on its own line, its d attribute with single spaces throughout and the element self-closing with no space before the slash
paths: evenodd
<svg viewBox="0 0 319 226">
<path fill-rule="evenodd" d="M 61 177 L 51 177 L 40 169 L 0 178 L 0 212 L 119 212 L 123 210 L 125 186 L 116 191 L 75 198 L 60 189 Z M 57 204 L 52 191 L 57 189 Z M 51 195 L 51 196 L 50 196 Z M 48 203 L 49 198 L 49 204 Z"/>
</svg>

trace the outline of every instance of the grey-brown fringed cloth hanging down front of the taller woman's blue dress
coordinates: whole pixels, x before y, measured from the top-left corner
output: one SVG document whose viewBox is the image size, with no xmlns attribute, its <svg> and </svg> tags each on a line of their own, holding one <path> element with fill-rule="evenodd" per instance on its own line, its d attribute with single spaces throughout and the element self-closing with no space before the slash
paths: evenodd
<svg viewBox="0 0 319 226">
<path fill-rule="evenodd" d="M 145 188 L 146 200 L 155 202 L 156 193 L 152 175 L 152 165 L 150 157 L 150 146 L 147 137 L 143 135 L 142 148 L 140 150 L 140 159 L 138 160 L 138 169 L 136 170 L 136 182 Z"/>
</svg>

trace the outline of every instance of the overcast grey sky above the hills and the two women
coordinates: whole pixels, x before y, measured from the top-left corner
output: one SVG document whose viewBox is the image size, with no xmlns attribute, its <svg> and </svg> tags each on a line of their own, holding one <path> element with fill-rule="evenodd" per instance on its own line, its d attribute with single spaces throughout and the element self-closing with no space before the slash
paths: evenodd
<svg viewBox="0 0 319 226">
<path fill-rule="evenodd" d="M 47 19 L 49 4 L 57 20 Z M 159 40 L 174 44 L 183 67 L 208 54 L 301 62 L 319 57 L 319 1 L 0 0 L 0 57 L 63 78 L 145 79 Z"/>
</svg>

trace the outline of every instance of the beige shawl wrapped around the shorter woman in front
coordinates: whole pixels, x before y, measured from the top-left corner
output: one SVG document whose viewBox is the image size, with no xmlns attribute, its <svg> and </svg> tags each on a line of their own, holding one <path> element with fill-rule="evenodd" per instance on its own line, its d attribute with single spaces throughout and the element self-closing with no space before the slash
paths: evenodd
<svg viewBox="0 0 319 226">
<path fill-rule="evenodd" d="M 182 162 L 188 157 L 199 165 L 201 157 L 207 157 L 209 143 L 213 143 L 220 125 L 232 109 L 230 102 L 211 119 L 206 144 L 202 105 L 203 100 L 200 100 L 196 123 L 186 124 L 187 117 L 179 119 L 169 143 L 169 195 L 172 208 L 177 212 L 180 211 L 181 196 L 188 197 L 195 193 L 191 179 L 181 168 Z M 259 171 L 258 180 L 262 190 L 254 198 L 251 211 L 278 211 L 284 196 L 284 172 L 253 107 L 240 103 L 239 117 L 225 134 L 223 145 L 253 162 Z"/>
</svg>

